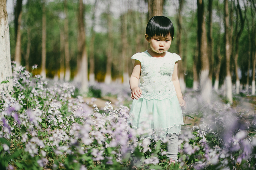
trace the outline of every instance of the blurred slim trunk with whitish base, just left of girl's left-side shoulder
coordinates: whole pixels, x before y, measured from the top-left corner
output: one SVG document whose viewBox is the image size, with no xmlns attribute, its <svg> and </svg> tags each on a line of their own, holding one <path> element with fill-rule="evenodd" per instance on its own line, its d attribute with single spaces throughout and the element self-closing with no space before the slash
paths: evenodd
<svg viewBox="0 0 256 170">
<path fill-rule="evenodd" d="M 127 84 L 129 82 L 129 73 L 128 73 L 128 58 L 127 58 L 127 50 L 128 50 L 128 42 L 127 42 L 127 14 L 121 15 L 121 38 L 122 38 L 122 72 L 123 72 L 123 83 Z"/>
</svg>

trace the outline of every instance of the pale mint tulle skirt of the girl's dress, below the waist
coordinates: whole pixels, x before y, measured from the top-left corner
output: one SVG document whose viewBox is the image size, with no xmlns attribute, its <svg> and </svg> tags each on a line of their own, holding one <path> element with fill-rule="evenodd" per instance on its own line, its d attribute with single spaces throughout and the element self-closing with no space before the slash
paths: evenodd
<svg viewBox="0 0 256 170">
<path fill-rule="evenodd" d="M 183 117 L 177 96 L 162 100 L 134 99 L 129 122 L 134 128 L 165 131 L 164 138 L 166 134 L 180 134 Z"/>
</svg>

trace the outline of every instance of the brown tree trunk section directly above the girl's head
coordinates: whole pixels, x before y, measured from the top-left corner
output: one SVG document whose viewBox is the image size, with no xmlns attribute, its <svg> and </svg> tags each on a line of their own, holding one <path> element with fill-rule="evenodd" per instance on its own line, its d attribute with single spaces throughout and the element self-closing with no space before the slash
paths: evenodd
<svg viewBox="0 0 256 170">
<path fill-rule="evenodd" d="M 164 0 L 148 0 L 149 19 L 156 15 L 163 15 L 163 2 Z"/>
</svg>

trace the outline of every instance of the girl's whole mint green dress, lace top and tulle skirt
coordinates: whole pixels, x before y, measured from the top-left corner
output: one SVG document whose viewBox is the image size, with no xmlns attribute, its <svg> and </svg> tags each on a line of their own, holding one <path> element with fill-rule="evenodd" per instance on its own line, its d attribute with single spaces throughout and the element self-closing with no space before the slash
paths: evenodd
<svg viewBox="0 0 256 170">
<path fill-rule="evenodd" d="M 166 138 L 166 134 L 180 134 L 182 110 L 171 81 L 180 56 L 166 52 L 163 58 L 155 58 L 145 51 L 134 54 L 132 60 L 141 62 L 142 96 L 133 100 L 129 122 L 134 128 L 143 126 L 165 132 L 162 138 Z"/>
</svg>

